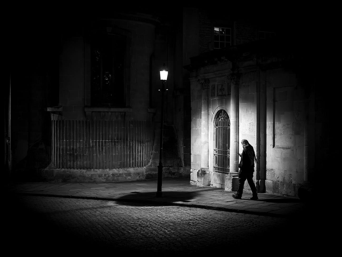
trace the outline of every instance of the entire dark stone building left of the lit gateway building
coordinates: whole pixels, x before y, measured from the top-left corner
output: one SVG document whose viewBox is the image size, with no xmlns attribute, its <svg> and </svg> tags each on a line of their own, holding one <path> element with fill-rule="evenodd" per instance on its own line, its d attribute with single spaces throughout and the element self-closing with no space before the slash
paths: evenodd
<svg viewBox="0 0 342 257">
<path fill-rule="evenodd" d="M 182 55 L 174 54 L 182 51 L 182 24 L 152 12 L 63 17 L 50 29 L 28 20 L 28 27 L 44 28 L 30 35 L 35 54 L 24 74 L 32 82 L 20 83 L 21 74 L 12 80 L 11 176 L 56 182 L 156 178 L 161 115 L 163 176 L 189 176 L 190 101 Z M 158 91 L 162 69 L 169 72 L 166 92 Z"/>
</svg>

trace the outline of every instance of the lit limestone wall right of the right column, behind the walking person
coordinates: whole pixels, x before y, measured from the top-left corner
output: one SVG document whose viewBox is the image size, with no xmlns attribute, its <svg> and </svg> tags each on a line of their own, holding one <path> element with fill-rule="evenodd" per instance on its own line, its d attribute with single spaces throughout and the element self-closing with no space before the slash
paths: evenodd
<svg viewBox="0 0 342 257">
<path fill-rule="evenodd" d="M 304 182 L 304 137 L 308 133 L 304 128 L 309 110 L 304 88 L 296 82 L 293 72 L 280 68 L 242 75 L 239 138 L 247 139 L 258 157 L 254 179 L 259 192 L 298 196 Z M 249 192 L 248 187 L 245 191 Z"/>
</svg>

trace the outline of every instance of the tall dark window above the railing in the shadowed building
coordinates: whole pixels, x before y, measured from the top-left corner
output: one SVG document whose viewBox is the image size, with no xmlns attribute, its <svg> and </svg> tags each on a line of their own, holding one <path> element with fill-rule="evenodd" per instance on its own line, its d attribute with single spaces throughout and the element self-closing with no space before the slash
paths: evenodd
<svg viewBox="0 0 342 257">
<path fill-rule="evenodd" d="M 125 106 L 124 60 L 126 39 L 96 34 L 91 42 L 91 105 Z"/>
</svg>

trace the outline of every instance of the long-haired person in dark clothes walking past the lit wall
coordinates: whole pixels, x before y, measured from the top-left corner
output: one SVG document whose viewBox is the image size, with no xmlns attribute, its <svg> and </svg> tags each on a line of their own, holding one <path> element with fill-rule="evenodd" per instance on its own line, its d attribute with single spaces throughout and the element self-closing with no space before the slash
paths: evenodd
<svg viewBox="0 0 342 257">
<path fill-rule="evenodd" d="M 232 196 L 235 199 L 241 199 L 244 184 L 247 179 L 253 194 L 251 200 L 258 200 L 257 188 L 255 188 L 253 182 L 254 161 L 257 162 L 257 157 L 255 157 L 253 146 L 251 146 L 246 139 L 242 139 L 241 144 L 244 149 L 242 150 L 242 154 L 238 153 L 241 157 L 239 163 L 239 187 L 237 189 L 237 193 Z"/>
</svg>

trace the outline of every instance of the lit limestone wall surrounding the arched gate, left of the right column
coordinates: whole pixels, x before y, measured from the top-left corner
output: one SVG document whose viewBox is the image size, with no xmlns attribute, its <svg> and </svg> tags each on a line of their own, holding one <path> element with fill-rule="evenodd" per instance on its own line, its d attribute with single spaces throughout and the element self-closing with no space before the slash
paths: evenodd
<svg viewBox="0 0 342 257">
<path fill-rule="evenodd" d="M 218 66 L 208 67 L 199 71 L 197 76 L 194 76 L 190 80 L 190 93 L 191 93 L 191 175 L 190 183 L 194 185 L 201 185 L 203 183 L 203 177 L 199 178 L 197 172 L 201 167 L 201 155 L 203 151 L 209 151 L 209 177 L 208 183 L 204 185 L 211 185 L 213 187 L 225 187 L 225 175 L 212 172 L 213 170 L 213 130 L 214 119 L 216 114 L 220 110 L 225 110 L 229 116 L 230 113 L 230 97 L 229 97 L 229 84 L 225 78 L 228 70 L 231 68 L 231 64 L 223 64 L 221 67 L 224 69 L 221 72 L 217 72 Z M 212 72 L 211 72 L 212 71 Z M 203 72 L 203 74 L 202 74 Z M 206 72 L 211 72 L 205 74 Z M 208 85 L 206 91 L 203 90 L 203 86 L 198 80 L 201 78 L 208 79 Z M 209 89 L 208 89 L 209 88 Z M 202 93 L 208 94 L 208 140 L 209 149 L 204 149 L 202 143 Z"/>
</svg>

